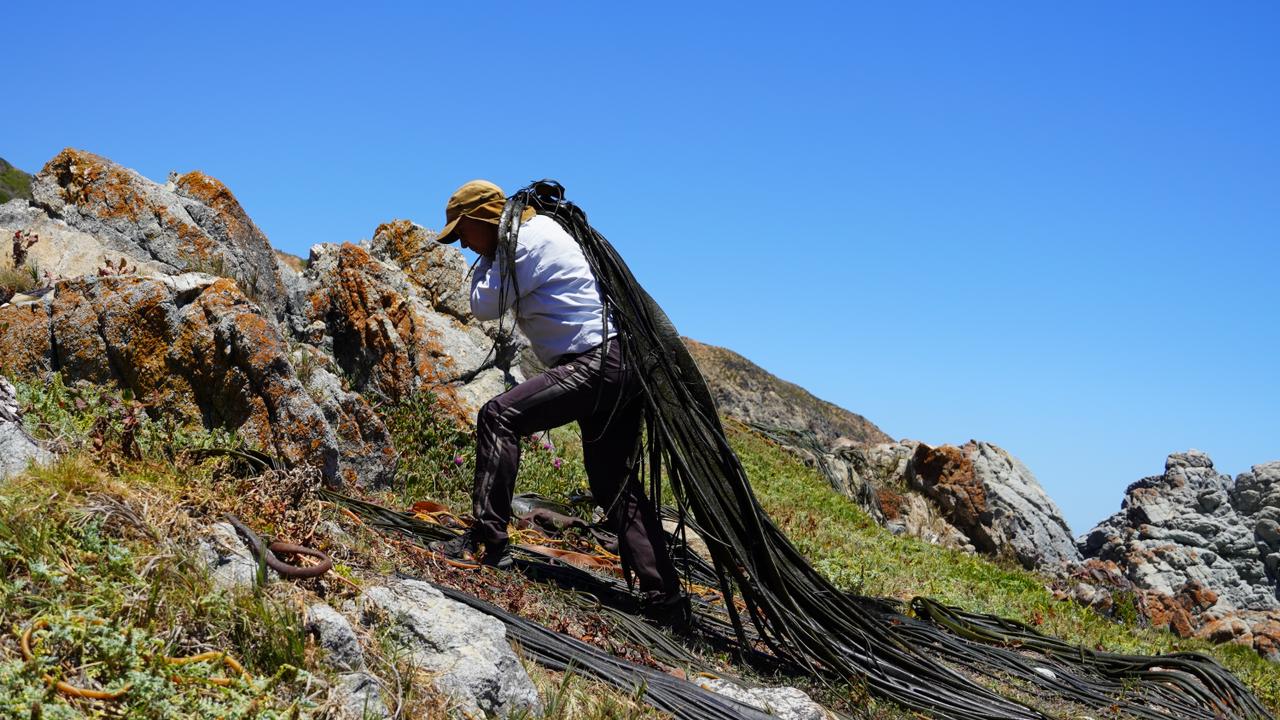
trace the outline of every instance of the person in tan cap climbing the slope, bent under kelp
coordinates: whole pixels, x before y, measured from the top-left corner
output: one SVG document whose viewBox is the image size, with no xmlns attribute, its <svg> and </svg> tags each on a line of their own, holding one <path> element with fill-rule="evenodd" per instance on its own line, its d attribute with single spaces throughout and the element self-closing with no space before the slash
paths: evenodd
<svg viewBox="0 0 1280 720">
<path fill-rule="evenodd" d="M 636 473 L 644 404 L 614 325 L 604 322 L 595 277 L 573 237 L 531 209 L 521 218 L 513 258 L 507 258 L 498 242 L 506 200 L 490 182 L 463 184 L 445 205 L 436 241 L 461 240 L 462 247 L 480 255 L 471 278 L 471 311 L 493 320 L 515 305 L 520 329 L 549 369 L 480 409 L 475 523 L 453 541 L 433 543 L 433 550 L 509 568 L 507 523 L 520 438 L 577 420 L 591 495 L 607 510 L 622 559 L 639 579 L 641 609 L 659 621 L 680 623 L 687 616 L 687 601 L 667 556 L 662 523 Z"/>
</svg>

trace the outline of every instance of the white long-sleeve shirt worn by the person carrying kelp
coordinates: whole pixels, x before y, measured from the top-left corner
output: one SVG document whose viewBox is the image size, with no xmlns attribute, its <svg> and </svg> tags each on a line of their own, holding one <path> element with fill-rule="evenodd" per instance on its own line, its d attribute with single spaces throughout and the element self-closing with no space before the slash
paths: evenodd
<svg viewBox="0 0 1280 720">
<path fill-rule="evenodd" d="M 499 254 L 502 250 L 498 251 Z M 471 313 L 494 320 L 511 309 L 498 306 L 500 268 L 481 258 L 471 277 Z M 509 284 L 509 279 L 506 281 Z M 595 275 L 582 249 L 552 218 L 534 215 L 520 225 L 516 237 L 516 288 L 520 315 L 516 322 L 547 365 L 561 355 L 585 352 L 604 341 L 603 306 Z M 609 337 L 613 323 L 609 323 Z"/>
</svg>

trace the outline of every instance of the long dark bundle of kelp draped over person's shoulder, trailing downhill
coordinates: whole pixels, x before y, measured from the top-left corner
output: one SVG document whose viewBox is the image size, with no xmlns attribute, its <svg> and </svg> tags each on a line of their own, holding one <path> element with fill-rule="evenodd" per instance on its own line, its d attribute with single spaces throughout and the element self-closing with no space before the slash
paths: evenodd
<svg viewBox="0 0 1280 720">
<path fill-rule="evenodd" d="M 913 633 L 892 623 L 854 596 L 827 582 L 769 520 L 746 473 L 728 445 L 710 392 L 666 313 L 636 282 L 609 242 L 564 199 L 563 187 L 540 181 L 512 195 L 499 223 L 499 261 L 515 278 L 515 243 L 526 208 L 554 218 L 582 247 L 605 304 L 605 319 L 617 325 L 617 342 L 632 364 L 646 400 L 646 471 L 650 497 L 658 497 L 662 475 L 682 509 L 703 529 L 724 605 L 740 641 L 748 644 L 735 593 L 746 605 L 746 618 L 771 650 L 819 676 L 861 680 L 873 692 L 900 705 L 940 717 L 959 720 L 1039 719 L 1043 712 L 1004 697 L 961 673 L 937 653 L 952 648 L 955 629 L 933 623 L 913 624 Z M 503 286 L 502 306 L 518 304 L 520 291 Z M 605 333 L 608 334 L 608 333 Z M 879 607 L 873 605 L 872 607 Z M 922 637 L 925 635 L 925 637 Z M 932 639 L 931 639 L 932 638 Z M 972 638 L 964 638 L 972 639 Z M 998 644 L 998 643 L 997 643 Z M 957 643 L 975 666 L 1009 664 L 997 646 Z M 1267 716 L 1261 705 L 1230 675 L 1204 659 L 1180 659 L 1179 669 L 1152 662 L 1134 673 L 1121 688 L 1074 676 L 1088 692 L 1061 692 L 1034 684 L 1039 694 L 1062 694 L 1100 710 L 1114 707 L 1129 693 L 1135 703 L 1174 696 L 1183 717 Z M 1188 671 L 1194 667 L 1196 671 Z M 1010 673 L 1021 674 L 1016 666 Z M 968 673 L 968 669 L 966 669 Z M 1034 669 L 1030 675 L 1042 676 Z M 1033 678 L 1027 678 L 1034 682 Z M 1101 700 L 1106 697 L 1106 700 Z"/>
</svg>

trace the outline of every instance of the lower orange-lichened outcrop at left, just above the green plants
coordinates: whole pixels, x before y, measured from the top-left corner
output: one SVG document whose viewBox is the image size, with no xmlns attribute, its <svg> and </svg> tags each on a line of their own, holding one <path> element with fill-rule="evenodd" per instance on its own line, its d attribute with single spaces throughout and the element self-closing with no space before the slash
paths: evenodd
<svg viewBox="0 0 1280 720">
<path fill-rule="evenodd" d="M 60 281 L 38 301 L 0 307 L 0 325 L 3 372 L 115 383 L 155 413 L 230 428 L 291 466 L 317 466 L 329 483 L 380 483 L 392 471 L 385 428 L 364 398 L 329 388 L 317 405 L 275 324 L 228 279 Z"/>
</svg>

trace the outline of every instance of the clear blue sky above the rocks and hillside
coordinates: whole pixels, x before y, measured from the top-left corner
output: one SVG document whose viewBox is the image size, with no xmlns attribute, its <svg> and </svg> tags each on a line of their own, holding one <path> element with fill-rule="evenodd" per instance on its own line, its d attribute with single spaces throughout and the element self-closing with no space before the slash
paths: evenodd
<svg viewBox="0 0 1280 720">
<path fill-rule="evenodd" d="M 360 5 L 15 4 L 0 156 L 202 169 L 301 255 L 558 178 L 685 334 L 1076 533 L 1280 460 L 1276 3 Z"/>
</svg>

